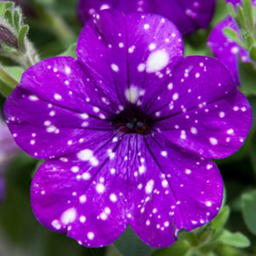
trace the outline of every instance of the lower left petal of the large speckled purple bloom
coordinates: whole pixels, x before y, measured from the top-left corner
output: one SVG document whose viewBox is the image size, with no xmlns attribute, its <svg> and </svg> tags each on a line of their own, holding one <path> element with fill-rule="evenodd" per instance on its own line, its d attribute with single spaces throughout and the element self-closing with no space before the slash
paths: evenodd
<svg viewBox="0 0 256 256">
<path fill-rule="evenodd" d="M 87 247 L 114 242 L 127 226 L 127 163 L 116 157 L 122 140 L 114 138 L 113 132 L 105 133 L 65 161 L 46 161 L 32 181 L 38 220 Z"/>
</svg>

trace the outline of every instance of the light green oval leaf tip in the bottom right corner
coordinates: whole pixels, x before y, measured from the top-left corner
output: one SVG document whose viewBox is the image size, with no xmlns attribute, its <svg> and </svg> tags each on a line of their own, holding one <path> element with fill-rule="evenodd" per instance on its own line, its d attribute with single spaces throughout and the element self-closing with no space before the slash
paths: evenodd
<svg viewBox="0 0 256 256">
<path fill-rule="evenodd" d="M 217 241 L 236 248 L 246 248 L 251 244 L 250 240 L 242 233 L 231 233 L 228 230 L 224 230 L 218 237 Z"/>
</svg>

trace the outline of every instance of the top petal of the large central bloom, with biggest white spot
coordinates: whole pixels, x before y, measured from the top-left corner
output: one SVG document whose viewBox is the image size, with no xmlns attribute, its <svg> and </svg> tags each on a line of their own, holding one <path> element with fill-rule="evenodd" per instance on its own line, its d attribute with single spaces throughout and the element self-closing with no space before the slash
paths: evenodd
<svg viewBox="0 0 256 256">
<path fill-rule="evenodd" d="M 181 59 L 183 42 L 161 16 L 104 11 L 86 23 L 77 54 L 99 90 L 122 109 L 129 102 L 140 105 L 144 89 L 157 87 L 160 72 Z"/>
</svg>

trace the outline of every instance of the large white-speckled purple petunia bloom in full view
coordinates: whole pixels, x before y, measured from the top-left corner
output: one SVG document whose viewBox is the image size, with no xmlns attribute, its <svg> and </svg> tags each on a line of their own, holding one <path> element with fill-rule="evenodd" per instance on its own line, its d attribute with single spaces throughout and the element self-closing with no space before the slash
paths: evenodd
<svg viewBox="0 0 256 256">
<path fill-rule="evenodd" d="M 210 159 L 237 151 L 251 126 L 229 70 L 184 59 L 176 27 L 154 14 L 96 14 L 77 55 L 26 70 L 5 103 L 16 142 L 46 160 L 31 188 L 41 224 L 88 247 L 130 224 L 166 247 L 212 220 L 223 180 Z"/>
</svg>

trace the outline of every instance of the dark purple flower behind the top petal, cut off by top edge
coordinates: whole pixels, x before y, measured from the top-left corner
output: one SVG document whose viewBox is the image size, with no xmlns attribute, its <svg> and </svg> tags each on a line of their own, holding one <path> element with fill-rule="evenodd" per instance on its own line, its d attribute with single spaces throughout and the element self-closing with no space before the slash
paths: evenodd
<svg viewBox="0 0 256 256">
<path fill-rule="evenodd" d="M 109 8 L 124 13 L 160 14 L 175 23 L 183 35 L 187 35 L 208 27 L 215 11 L 215 0 L 80 0 L 79 20 L 86 23 L 93 14 Z"/>
</svg>

